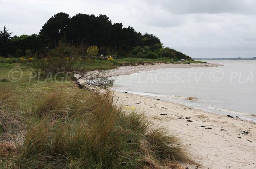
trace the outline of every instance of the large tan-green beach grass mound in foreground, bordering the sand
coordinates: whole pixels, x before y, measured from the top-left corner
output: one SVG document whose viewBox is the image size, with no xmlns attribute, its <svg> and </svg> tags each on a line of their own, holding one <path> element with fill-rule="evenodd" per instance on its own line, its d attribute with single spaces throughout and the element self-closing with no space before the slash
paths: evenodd
<svg viewBox="0 0 256 169">
<path fill-rule="evenodd" d="M 141 114 L 123 112 L 110 92 L 45 91 L 35 102 L 41 120 L 27 129 L 17 168 L 132 169 L 194 163 L 180 140 L 154 129 Z"/>
</svg>

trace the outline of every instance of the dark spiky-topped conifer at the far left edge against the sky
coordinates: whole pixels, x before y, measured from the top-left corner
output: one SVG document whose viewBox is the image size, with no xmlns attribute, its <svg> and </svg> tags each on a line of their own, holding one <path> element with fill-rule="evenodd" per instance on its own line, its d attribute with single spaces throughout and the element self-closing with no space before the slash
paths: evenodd
<svg viewBox="0 0 256 169">
<path fill-rule="evenodd" d="M 0 31 L 0 55 L 4 57 L 7 57 L 10 50 L 12 32 L 9 33 L 8 31 L 6 26 L 4 26 L 3 31 Z"/>
</svg>

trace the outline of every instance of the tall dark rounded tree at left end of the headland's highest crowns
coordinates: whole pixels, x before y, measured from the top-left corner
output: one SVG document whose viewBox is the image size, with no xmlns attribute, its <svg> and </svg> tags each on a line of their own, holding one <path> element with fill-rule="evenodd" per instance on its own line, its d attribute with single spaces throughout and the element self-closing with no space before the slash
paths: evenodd
<svg viewBox="0 0 256 169">
<path fill-rule="evenodd" d="M 69 22 L 69 14 L 60 12 L 52 16 L 44 26 L 42 26 L 39 34 L 47 35 L 51 44 L 56 48 L 58 41 L 64 36 Z"/>
</svg>

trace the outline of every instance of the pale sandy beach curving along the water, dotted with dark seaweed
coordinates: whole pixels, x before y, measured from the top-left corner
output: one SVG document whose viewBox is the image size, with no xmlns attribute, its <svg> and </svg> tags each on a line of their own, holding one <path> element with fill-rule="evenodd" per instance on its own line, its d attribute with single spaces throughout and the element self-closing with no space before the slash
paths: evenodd
<svg viewBox="0 0 256 169">
<path fill-rule="evenodd" d="M 191 67 L 215 67 L 216 63 L 191 64 Z M 128 75 L 163 68 L 188 67 L 186 64 L 125 66 L 104 71 L 106 77 Z M 83 83 L 82 80 L 79 83 Z M 205 112 L 157 98 L 116 92 L 114 103 L 127 112 L 143 113 L 155 125 L 177 135 L 201 166 L 183 164 L 186 169 L 256 168 L 256 123 Z"/>
</svg>

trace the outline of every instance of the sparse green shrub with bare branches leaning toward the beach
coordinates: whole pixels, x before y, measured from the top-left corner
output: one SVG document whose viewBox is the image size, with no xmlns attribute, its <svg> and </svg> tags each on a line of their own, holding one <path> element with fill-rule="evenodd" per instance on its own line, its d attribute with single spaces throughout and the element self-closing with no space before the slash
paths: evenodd
<svg viewBox="0 0 256 169">
<path fill-rule="evenodd" d="M 91 46 L 91 49 L 98 49 L 97 46 Z M 42 59 L 33 59 L 27 63 L 29 68 L 36 71 L 37 76 L 41 73 L 47 74 L 72 74 L 76 78 L 79 87 L 96 91 L 98 88 L 108 88 L 113 86 L 113 79 L 104 77 L 102 71 L 90 73 L 82 69 L 83 58 L 79 57 L 79 46 L 69 46 L 60 42 L 59 46 L 50 50 L 47 57 Z M 93 50 L 94 51 L 94 50 Z M 82 84 L 79 83 L 79 81 Z"/>
</svg>

